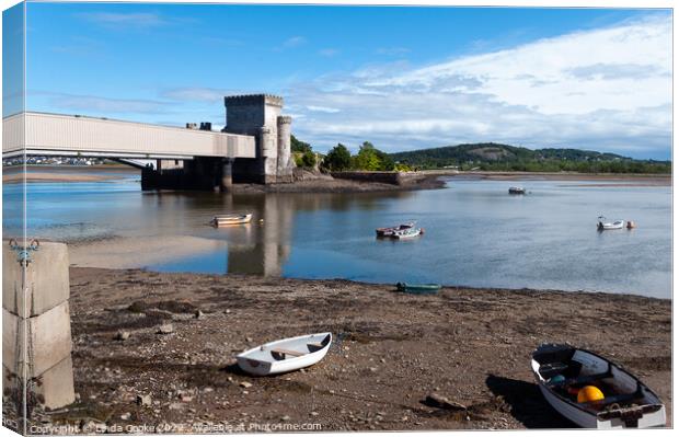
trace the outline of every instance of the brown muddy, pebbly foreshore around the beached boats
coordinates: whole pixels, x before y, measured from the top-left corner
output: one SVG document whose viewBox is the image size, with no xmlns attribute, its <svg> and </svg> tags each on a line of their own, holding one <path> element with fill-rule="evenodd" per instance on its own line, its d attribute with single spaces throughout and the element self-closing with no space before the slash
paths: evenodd
<svg viewBox="0 0 679 437">
<path fill-rule="evenodd" d="M 79 401 L 34 413 L 53 432 L 571 427 L 533 383 L 542 342 L 626 366 L 671 417 L 670 300 L 71 267 L 70 302 Z M 323 331 L 335 341 L 306 371 L 252 378 L 234 365 L 245 348 Z M 429 406 L 430 393 L 467 410 Z"/>
</svg>

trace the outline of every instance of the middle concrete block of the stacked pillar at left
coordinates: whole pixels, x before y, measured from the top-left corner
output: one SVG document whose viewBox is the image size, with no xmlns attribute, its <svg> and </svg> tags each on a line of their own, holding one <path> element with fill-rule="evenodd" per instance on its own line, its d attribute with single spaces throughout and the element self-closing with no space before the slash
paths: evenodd
<svg viewBox="0 0 679 437">
<path fill-rule="evenodd" d="M 24 334 L 24 326 L 27 326 L 27 334 Z M 70 357 L 72 343 L 68 301 L 30 319 L 19 318 L 2 309 L 2 364 L 13 373 L 22 373 L 20 360 L 23 361 L 26 346 L 28 378 L 39 376 Z"/>
</svg>

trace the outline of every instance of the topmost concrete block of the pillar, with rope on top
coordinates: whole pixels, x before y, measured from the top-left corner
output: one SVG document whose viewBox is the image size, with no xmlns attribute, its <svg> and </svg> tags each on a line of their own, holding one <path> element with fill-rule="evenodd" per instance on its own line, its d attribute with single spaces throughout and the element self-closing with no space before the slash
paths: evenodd
<svg viewBox="0 0 679 437">
<path fill-rule="evenodd" d="M 2 244 L 2 307 L 24 318 L 42 314 L 68 300 L 70 295 L 67 245 L 44 242 L 30 254 L 24 292 L 23 267 L 18 254 L 7 241 Z"/>
</svg>

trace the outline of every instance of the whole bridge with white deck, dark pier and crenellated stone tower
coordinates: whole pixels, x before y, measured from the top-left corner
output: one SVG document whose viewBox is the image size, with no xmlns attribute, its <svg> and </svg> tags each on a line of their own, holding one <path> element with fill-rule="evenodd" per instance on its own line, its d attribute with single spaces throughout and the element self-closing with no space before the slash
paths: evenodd
<svg viewBox="0 0 679 437">
<path fill-rule="evenodd" d="M 143 168 L 143 189 L 222 189 L 233 182 L 291 182 L 291 118 L 269 94 L 226 96 L 226 127 L 151 125 L 82 115 L 24 112 L 2 120 L 2 157 L 108 158 Z M 137 165 L 138 166 L 138 165 Z"/>
</svg>

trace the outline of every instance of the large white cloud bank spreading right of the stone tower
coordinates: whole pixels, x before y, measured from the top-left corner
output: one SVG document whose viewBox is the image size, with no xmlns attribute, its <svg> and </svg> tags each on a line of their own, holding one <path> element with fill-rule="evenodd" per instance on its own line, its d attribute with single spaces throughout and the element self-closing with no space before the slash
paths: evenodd
<svg viewBox="0 0 679 437">
<path fill-rule="evenodd" d="M 289 101 L 307 110 L 296 135 L 320 149 L 504 141 L 668 157 L 671 73 L 671 19 L 653 16 L 426 67 L 370 65 Z"/>
</svg>

